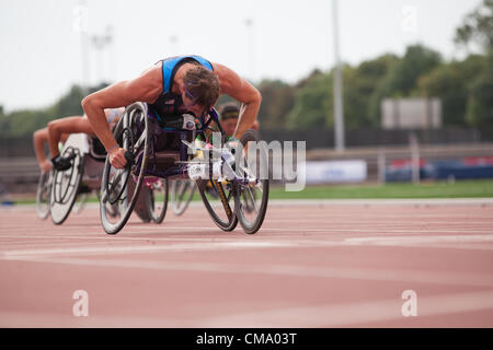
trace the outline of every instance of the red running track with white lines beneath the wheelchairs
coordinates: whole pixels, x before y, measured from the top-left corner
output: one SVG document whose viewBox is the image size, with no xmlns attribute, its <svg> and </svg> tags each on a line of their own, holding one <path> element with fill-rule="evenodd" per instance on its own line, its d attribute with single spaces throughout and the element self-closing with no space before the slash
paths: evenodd
<svg viewBox="0 0 493 350">
<path fill-rule="evenodd" d="M 2 208 L 0 326 L 493 327 L 492 223 L 492 200 L 273 202 L 250 236 L 200 205 L 110 236 L 95 208 Z"/>
</svg>

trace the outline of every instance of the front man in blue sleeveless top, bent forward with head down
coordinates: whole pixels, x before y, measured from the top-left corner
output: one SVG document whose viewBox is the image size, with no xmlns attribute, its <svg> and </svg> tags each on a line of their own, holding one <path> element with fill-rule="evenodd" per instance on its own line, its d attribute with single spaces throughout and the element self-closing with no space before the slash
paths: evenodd
<svg viewBox="0 0 493 350">
<path fill-rule="evenodd" d="M 103 110 L 135 102 L 148 103 L 159 119 L 185 112 L 206 115 L 220 94 L 242 103 L 233 137 L 239 137 L 256 120 L 261 93 L 226 66 L 200 56 L 172 57 L 158 61 L 140 77 L 117 82 L 82 100 L 82 107 L 98 138 L 105 147 L 110 163 L 122 168 L 125 149 L 118 147 Z"/>
</svg>

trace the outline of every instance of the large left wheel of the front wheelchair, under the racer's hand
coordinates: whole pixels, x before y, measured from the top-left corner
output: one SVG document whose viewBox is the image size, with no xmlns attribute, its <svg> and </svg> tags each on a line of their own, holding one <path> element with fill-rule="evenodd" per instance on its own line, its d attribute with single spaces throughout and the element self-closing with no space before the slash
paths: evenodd
<svg viewBox="0 0 493 350">
<path fill-rule="evenodd" d="M 127 150 L 127 165 L 117 170 L 106 156 L 101 180 L 100 212 L 107 234 L 116 234 L 125 226 L 139 197 L 149 151 L 147 105 L 134 103 L 128 106 L 113 135 L 118 145 Z M 128 186 L 129 182 L 135 182 L 135 186 Z M 112 206 L 118 208 L 116 217 L 108 211 Z"/>
</svg>

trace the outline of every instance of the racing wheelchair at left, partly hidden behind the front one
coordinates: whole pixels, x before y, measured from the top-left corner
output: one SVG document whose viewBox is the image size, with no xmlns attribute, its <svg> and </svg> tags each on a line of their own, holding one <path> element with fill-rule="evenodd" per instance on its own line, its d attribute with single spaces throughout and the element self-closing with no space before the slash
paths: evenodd
<svg viewBox="0 0 493 350">
<path fill-rule="evenodd" d="M 101 142 L 85 133 L 70 135 L 60 154 L 70 159 L 70 168 L 42 173 L 36 196 L 38 217 L 46 219 L 50 215 L 55 224 L 64 223 L 71 211 L 80 212 L 91 191 L 95 190 L 99 196 L 106 160 Z M 156 196 L 162 197 L 159 205 L 154 200 Z M 136 212 L 144 222 L 161 223 L 167 205 L 168 183 L 160 182 L 142 191 Z M 118 217 L 122 209 L 122 206 L 108 206 L 107 212 Z"/>
</svg>

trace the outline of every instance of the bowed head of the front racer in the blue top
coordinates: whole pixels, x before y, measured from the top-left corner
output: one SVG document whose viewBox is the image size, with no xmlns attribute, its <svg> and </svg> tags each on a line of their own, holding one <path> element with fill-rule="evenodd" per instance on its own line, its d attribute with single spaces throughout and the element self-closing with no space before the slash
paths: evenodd
<svg viewBox="0 0 493 350">
<path fill-rule="evenodd" d="M 195 66 L 183 78 L 182 100 L 195 116 L 210 110 L 219 98 L 219 80 L 207 68 Z"/>
</svg>

